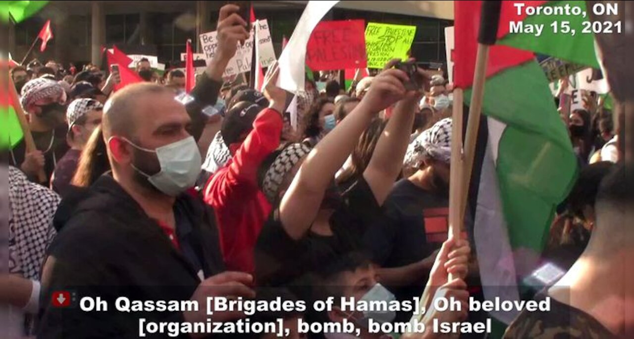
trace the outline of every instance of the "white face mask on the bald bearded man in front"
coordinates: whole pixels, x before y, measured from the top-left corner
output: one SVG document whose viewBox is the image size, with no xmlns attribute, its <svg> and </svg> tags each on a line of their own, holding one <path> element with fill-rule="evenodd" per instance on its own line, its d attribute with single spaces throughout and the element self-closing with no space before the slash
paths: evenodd
<svg viewBox="0 0 634 339">
<path fill-rule="evenodd" d="M 155 175 L 147 175 L 132 165 L 134 170 L 148 178 L 148 182 L 161 192 L 171 197 L 176 197 L 187 188 L 193 187 L 200 174 L 200 151 L 193 137 L 172 142 L 155 150 L 144 149 L 126 139 L 129 144 L 145 152 L 156 153 L 159 159 L 160 172 Z"/>
</svg>

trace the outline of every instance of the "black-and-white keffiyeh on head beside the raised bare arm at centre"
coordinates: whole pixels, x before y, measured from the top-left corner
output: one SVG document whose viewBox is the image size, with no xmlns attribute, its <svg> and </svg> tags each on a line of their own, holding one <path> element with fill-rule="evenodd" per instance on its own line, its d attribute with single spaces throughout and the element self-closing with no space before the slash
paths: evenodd
<svg viewBox="0 0 634 339">
<path fill-rule="evenodd" d="M 275 201 L 284 177 L 310 151 L 311 149 L 307 145 L 294 143 L 286 145 L 279 152 L 279 155 L 275 157 L 271 166 L 264 173 L 264 178 L 260 184 L 262 193 L 269 202 Z"/>
</svg>

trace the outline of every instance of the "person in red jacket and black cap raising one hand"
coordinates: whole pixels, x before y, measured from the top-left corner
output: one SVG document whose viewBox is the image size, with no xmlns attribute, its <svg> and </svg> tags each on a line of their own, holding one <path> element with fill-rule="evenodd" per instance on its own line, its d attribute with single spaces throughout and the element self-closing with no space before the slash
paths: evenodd
<svg viewBox="0 0 634 339">
<path fill-rule="evenodd" d="M 209 178 L 203 190 L 205 202 L 216 211 L 225 264 L 235 271 L 254 271 L 256 240 L 271 212 L 256 176 L 264 158 L 280 145 L 286 92 L 275 86 L 277 75 L 274 65 L 264 79 L 268 108 L 242 101 L 226 114 L 221 135 L 232 157 Z M 245 121 L 252 119 L 256 110 L 253 128 L 248 132 Z"/>
</svg>

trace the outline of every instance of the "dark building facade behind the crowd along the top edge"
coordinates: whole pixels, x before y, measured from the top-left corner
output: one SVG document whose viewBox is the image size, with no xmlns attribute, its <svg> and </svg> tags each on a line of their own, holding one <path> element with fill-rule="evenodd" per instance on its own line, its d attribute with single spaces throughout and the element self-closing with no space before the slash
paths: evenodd
<svg viewBox="0 0 634 339">
<path fill-rule="evenodd" d="M 156 55 L 160 63 L 179 62 L 187 39 L 200 50 L 198 34 L 216 29 L 218 10 L 224 3 L 51 1 L 36 16 L 15 25 L 15 46 L 10 46 L 10 51 L 13 58 L 22 59 L 44 22 L 51 19 L 55 38 L 45 52 L 34 49 L 33 56 L 43 62 L 55 59 L 64 65 L 98 63 L 101 46 L 113 44 L 128 54 Z M 292 35 L 305 3 L 254 1 L 256 16 L 268 19 L 276 55 L 281 52 L 283 36 Z M 330 10 L 324 20 L 364 19 L 417 26 L 412 55 L 424 65 L 445 66 L 444 27 L 453 25 L 453 20 L 446 18 L 448 13 L 453 14 L 453 1 L 342 1 L 339 6 Z"/>
</svg>

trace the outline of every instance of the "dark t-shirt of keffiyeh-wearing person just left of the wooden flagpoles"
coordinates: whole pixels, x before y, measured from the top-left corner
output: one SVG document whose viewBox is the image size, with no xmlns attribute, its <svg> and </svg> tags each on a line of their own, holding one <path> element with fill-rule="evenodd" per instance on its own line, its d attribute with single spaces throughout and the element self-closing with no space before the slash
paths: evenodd
<svg viewBox="0 0 634 339">
<path fill-rule="evenodd" d="M 421 261 L 434 252 L 427 243 L 423 211 L 448 207 L 446 196 L 433 194 L 402 179 L 385 200 L 385 216 L 373 223 L 363 236 L 363 245 L 382 268 L 398 268 Z M 420 296 L 427 279 L 410 286 L 388 286 L 399 300 Z"/>
</svg>

